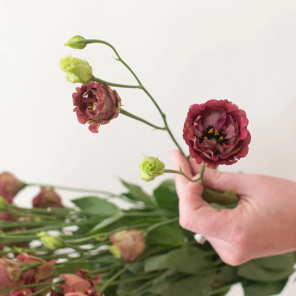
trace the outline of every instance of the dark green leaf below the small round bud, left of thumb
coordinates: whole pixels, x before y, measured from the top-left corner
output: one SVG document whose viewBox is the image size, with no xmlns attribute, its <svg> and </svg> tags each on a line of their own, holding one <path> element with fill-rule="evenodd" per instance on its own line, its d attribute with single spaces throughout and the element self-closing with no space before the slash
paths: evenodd
<svg viewBox="0 0 296 296">
<path fill-rule="evenodd" d="M 167 210 L 178 210 L 178 195 L 175 182 L 166 180 L 158 186 L 153 192 L 158 205 Z"/>
</svg>

